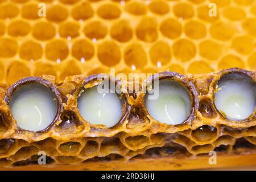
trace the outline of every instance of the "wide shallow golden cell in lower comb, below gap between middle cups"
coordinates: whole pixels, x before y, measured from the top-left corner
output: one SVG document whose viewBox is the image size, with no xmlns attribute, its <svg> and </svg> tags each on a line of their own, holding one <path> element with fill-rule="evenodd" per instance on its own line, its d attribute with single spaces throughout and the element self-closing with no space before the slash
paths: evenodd
<svg viewBox="0 0 256 182">
<path fill-rule="evenodd" d="M 148 137 L 144 135 L 138 135 L 134 137 L 127 137 L 125 139 L 125 143 L 131 150 L 136 151 L 138 149 L 141 149 L 150 145 L 150 140 Z"/>
</svg>

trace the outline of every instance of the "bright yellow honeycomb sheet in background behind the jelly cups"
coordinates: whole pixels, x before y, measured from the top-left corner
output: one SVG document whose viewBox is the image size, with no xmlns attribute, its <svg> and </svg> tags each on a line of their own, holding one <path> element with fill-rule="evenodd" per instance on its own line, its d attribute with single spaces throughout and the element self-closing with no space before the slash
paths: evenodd
<svg viewBox="0 0 256 182">
<path fill-rule="evenodd" d="M 211 3 L 216 16 L 209 15 Z M 46 74 L 63 82 L 110 68 L 181 74 L 255 70 L 255 32 L 254 0 L 3 0 L 0 81 Z"/>
</svg>

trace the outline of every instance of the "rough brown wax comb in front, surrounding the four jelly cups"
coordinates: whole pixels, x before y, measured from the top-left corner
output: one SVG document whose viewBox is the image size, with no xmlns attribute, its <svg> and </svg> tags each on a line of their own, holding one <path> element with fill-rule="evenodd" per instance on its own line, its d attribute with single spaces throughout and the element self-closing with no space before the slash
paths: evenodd
<svg viewBox="0 0 256 182">
<path fill-rule="evenodd" d="M 22 167 L 38 164 L 40 151 L 47 155 L 48 166 L 85 165 L 95 162 L 133 162 L 141 159 L 191 159 L 216 151 L 218 155 L 256 154 L 256 109 L 244 121 L 226 119 L 213 104 L 217 81 L 226 73 L 246 74 L 255 83 L 256 72 L 239 68 L 204 75 L 181 76 L 162 72 L 159 78 L 182 80 L 191 90 L 193 104 L 187 121 L 168 125 L 156 121 L 146 110 L 144 93 L 122 91 L 123 117 L 113 127 L 92 125 L 77 109 L 81 88 L 100 83 L 97 75 L 66 77 L 56 85 L 55 77 L 26 77 L 13 86 L 1 85 L 0 166 Z M 112 79 L 111 77 L 109 77 Z M 18 129 L 8 105 L 11 90 L 24 81 L 48 82 L 60 96 L 56 121 L 46 130 Z M 55 85 L 55 86 L 54 86 Z M 122 89 L 123 90 L 123 89 Z"/>
</svg>

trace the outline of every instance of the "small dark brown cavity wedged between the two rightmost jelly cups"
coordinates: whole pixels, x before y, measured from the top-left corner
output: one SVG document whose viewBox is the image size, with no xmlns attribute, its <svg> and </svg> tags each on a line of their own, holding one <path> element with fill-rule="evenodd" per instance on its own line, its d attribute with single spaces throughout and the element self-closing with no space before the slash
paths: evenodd
<svg viewBox="0 0 256 182">
<path fill-rule="evenodd" d="M 205 118 L 214 118 L 217 114 L 213 109 L 213 103 L 209 98 L 204 98 L 199 102 L 198 110 Z"/>
</svg>

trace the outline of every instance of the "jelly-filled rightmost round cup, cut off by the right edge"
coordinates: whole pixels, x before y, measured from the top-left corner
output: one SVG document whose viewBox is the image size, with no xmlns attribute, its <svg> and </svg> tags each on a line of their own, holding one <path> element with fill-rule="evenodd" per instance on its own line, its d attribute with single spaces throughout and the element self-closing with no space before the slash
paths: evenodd
<svg viewBox="0 0 256 182">
<path fill-rule="evenodd" d="M 217 82 L 214 104 L 228 119 L 242 121 L 254 113 L 256 85 L 245 73 L 227 73 Z"/>
</svg>

